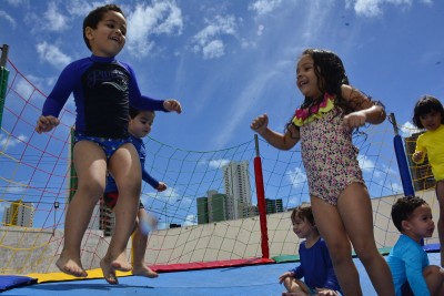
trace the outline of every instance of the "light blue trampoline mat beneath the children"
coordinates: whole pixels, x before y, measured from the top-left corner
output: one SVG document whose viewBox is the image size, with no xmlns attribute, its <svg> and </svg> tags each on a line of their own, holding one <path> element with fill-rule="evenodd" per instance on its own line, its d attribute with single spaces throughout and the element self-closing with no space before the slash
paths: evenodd
<svg viewBox="0 0 444 296">
<path fill-rule="evenodd" d="M 440 264 L 440 253 L 428 253 L 431 264 Z M 376 295 L 361 262 L 354 258 L 365 296 Z M 284 287 L 278 278 L 299 263 L 265 264 L 229 268 L 162 273 L 158 278 L 141 276 L 119 278 L 119 285 L 104 279 L 43 283 L 6 290 L 1 295 L 183 295 L 183 296 L 280 296 Z"/>
</svg>

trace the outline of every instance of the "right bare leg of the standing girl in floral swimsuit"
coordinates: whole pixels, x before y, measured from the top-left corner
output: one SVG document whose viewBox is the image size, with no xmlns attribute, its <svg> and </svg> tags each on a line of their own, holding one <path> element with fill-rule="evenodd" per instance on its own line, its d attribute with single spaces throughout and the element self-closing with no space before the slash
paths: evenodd
<svg viewBox="0 0 444 296">
<path fill-rule="evenodd" d="M 376 247 L 372 203 L 367 190 L 362 184 L 351 184 L 341 194 L 337 208 L 354 251 L 363 263 L 377 295 L 394 296 L 392 273 Z"/>
</svg>

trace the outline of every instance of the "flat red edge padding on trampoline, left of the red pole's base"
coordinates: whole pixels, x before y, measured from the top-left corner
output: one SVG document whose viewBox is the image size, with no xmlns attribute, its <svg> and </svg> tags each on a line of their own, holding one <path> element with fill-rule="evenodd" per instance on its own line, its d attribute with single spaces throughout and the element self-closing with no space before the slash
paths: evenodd
<svg viewBox="0 0 444 296">
<path fill-rule="evenodd" d="M 206 268 L 221 268 L 221 267 L 238 267 L 255 264 L 270 264 L 275 263 L 269 258 L 249 258 L 249 259 L 230 259 L 230 261 L 213 261 L 213 262 L 193 262 L 183 264 L 169 264 L 169 265 L 152 265 L 150 266 L 157 273 L 181 272 L 181 271 L 195 271 Z"/>
</svg>

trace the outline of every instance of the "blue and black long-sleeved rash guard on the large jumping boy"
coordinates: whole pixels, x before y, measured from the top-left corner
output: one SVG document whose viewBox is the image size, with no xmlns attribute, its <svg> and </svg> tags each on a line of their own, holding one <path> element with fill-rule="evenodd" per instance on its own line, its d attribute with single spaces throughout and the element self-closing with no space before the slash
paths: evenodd
<svg viewBox="0 0 444 296">
<path fill-rule="evenodd" d="M 47 98 L 42 115 L 58 118 L 71 92 L 74 94 L 75 131 L 88 136 L 129 136 L 129 106 L 160 110 L 163 101 L 141 94 L 132 68 L 115 58 L 91 55 L 70 63 Z"/>
</svg>

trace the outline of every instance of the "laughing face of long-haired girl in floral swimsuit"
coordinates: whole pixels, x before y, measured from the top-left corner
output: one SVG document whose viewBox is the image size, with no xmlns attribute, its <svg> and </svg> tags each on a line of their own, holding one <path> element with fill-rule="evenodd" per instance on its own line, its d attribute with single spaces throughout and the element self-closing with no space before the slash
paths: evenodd
<svg viewBox="0 0 444 296">
<path fill-rule="evenodd" d="M 322 95 L 314 67 L 313 58 L 309 54 L 302 55 L 296 67 L 297 88 L 304 96 L 311 99 Z"/>
</svg>

